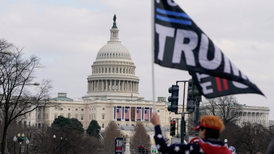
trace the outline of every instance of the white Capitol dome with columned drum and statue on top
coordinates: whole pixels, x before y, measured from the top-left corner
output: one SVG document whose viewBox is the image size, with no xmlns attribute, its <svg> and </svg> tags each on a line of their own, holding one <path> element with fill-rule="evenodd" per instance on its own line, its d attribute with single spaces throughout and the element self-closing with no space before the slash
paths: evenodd
<svg viewBox="0 0 274 154">
<path fill-rule="evenodd" d="M 88 92 L 83 99 L 144 99 L 138 93 L 139 77 L 132 56 L 121 41 L 116 20 L 110 40 L 98 51 L 88 76 Z"/>
</svg>

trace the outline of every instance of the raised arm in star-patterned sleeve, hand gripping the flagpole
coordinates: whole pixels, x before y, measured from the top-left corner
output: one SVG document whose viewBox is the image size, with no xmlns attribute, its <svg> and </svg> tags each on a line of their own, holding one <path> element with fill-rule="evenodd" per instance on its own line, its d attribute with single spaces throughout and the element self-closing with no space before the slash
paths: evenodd
<svg viewBox="0 0 274 154">
<path fill-rule="evenodd" d="M 186 151 L 189 152 L 190 149 L 196 148 L 192 144 L 166 144 L 166 141 L 162 136 L 160 120 L 156 113 L 153 113 L 151 123 L 153 123 L 153 125 L 155 126 L 155 144 L 158 151 L 160 151 L 161 153 L 182 153 Z"/>
</svg>

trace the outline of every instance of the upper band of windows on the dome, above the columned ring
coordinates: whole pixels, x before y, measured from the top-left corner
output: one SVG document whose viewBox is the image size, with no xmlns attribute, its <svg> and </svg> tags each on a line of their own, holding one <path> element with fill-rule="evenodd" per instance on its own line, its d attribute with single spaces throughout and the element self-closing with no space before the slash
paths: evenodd
<svg viewBox="0 0 274 154">
<path fill-rule="evenodd" d="M 92 68 L 92 73 L 125 73 L 125 74 L 135 74 L 134 68 Z"/>
</svg>

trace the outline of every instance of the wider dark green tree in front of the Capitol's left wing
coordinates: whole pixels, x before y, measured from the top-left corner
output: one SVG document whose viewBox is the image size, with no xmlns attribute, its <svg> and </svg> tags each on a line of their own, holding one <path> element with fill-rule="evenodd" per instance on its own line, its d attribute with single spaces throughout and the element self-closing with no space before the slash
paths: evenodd
<svg viewBox="0 0 274 154">
<path fill-rule="evenodd" d="M 77 118 L 65 118 L 64 116 L 58 116 L 55 118 L 51 127 L 60 127 L 62 129 L 74 130 L 77 133 L 84 133 L 83 124 L 79 122 Z"/>
</svg>

